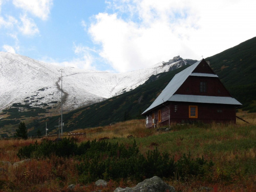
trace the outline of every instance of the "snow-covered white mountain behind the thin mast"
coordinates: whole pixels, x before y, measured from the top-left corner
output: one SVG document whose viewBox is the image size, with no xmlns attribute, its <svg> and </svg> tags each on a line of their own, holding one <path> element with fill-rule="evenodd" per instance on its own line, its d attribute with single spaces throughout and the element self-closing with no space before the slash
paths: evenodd
<svg viewBox="0 0 256 192">
<path fill-rule="evenodd" d="M 133 90 L 153 74 L 177 69 L 187 65 L 189 60 L 159 62 L 127 73 L 108 73 L 62 68 L 26 56 L 0 52 L 0 111 L 13 103 L 56 108 L 61 98 L 61 69 L 63 109 L 70 110 Z"/>
</svg>

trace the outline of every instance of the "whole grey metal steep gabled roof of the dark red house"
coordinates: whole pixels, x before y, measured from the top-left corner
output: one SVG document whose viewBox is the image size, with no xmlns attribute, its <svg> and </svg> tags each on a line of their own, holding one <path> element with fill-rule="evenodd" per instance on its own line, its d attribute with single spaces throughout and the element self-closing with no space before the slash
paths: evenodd
<svg viewBox="0 0 256 192">
<path fill-rule="evenodd" d="M 218 77 L 216 74 L 208 73 L 193 73 L 193 71 L 202 62 L 206 62 L 204 59 L 197 61 L 190 67 L 184 69 L 180 73 L 177 73 L 174 78 L 167 84 L 161 94 L 156 100 L 147 108 L 143 113 L 156 108 L 158 105 L 163 104 L 166 101 L 181 101 L 181 102 L 201 102 L 201 103 L 219 103 L 219 104 L 234 104 L 241 105 L 236 99 L 232 97 L 213 97 L 213 96 L 200 96 L 200 95 L 177 95 L 175 92 L 181 87 L 188 76 L 202 76 L 202 77 Z M 214 73 L 214 72 L 213 72 Z"/>
</svg>

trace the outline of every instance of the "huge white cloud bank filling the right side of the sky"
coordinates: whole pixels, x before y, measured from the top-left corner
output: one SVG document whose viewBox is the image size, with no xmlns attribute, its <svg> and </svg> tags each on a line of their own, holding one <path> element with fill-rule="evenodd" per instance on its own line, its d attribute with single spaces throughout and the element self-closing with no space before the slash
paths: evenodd
<svg viewBox="0 0 256 192">
<path fill-rule="evenodd" d="M 154 65 L 177 54 L 212 56 L 256 34 L 256 2 L 120 0 L 89 27 L 101 57 L 118 72 Z M 127 17 L 128 15 L 128 17 Z"/>
</svg>

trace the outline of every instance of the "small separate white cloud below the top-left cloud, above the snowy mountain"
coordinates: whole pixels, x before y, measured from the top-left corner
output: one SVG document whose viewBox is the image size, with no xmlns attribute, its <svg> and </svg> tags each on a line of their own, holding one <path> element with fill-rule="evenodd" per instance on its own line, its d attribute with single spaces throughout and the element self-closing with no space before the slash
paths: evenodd
<svg viewBox="0 0 256 192">
<path fill-rule="evenodd" d="M 34 23 L 33 19 L 28 18 L 27 15 L 20 16 L 20 20 L 22 21 L 22 26 L 19 26 L 19 31 L 24 35 L 33 36 L 39 33 L 39 30 Z"/>
</svg>

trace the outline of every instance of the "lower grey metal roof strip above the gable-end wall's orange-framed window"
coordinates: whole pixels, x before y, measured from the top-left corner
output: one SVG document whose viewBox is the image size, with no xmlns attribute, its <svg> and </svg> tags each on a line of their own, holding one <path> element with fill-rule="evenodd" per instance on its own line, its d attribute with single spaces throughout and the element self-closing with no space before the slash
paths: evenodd
<svg viewBox="0 0 256 192">
<path fill-rule="evenodd" d="M 217 96 L 203 96 L 203 95 L 179 95 L 175 94 L 168 99 L 168 101 L 182 101 L 195 103 L 218 103 L 218 104 L 236 104 L 241 105 L 239 101 L 232 97 L 217 97 Z"/>
</svg>

